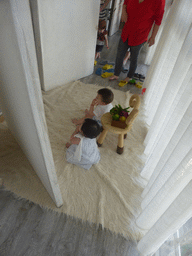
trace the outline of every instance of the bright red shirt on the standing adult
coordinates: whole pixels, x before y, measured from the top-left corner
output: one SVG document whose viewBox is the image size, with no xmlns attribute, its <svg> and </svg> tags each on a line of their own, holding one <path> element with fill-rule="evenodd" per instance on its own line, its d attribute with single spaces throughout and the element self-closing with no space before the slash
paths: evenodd
<svg viewBox="0 0 192 256">
<path fill-rule="evenodd" d="M 165 0 L 125 0 L 128 19 L 125 23 L 121 38 L 125 42 L 128 38 L 130 46 L 142 44 L 148 40 L 153 23 L 158 26 L 164 14 Z"/>
</svg>

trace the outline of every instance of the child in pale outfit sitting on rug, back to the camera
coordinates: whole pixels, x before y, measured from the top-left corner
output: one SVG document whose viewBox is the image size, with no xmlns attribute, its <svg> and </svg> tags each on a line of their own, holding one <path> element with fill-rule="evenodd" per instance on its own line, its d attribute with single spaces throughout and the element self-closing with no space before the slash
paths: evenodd
<svg viewBox="0 0 192 256">
<path fill-rule="evenodd" d="M 82 125 L 78 125 L 66 144 L 66 158 L 69 163 L 89 170 L 100 160 L 100 153 L 96 142 L 101 127 L 97 121 L 86 118 Z"/>
</svg>

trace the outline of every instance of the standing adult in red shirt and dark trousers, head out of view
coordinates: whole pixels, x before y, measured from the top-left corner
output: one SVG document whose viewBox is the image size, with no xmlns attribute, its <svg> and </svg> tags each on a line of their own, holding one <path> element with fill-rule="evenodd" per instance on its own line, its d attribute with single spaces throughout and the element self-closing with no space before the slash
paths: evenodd
<svg viewBox="0 0 192 256">
<path fill-rule="evenodd" d="M 137 68 L 141 47 L 145 42 L 148 42 L 149 46 L 155 43 L 155 37 L 163 18 L 164 7 L 165 0 L 124 0 L 121 21 L 125 22 L 125 25 L 117 49 L 114 76 L 110 77 L 110 80 L 118 79 L 128 48 L 131 52 L 131 61 L 125 81 L 129 82 L 132 79 Z M 148 39 L 152 26 L 153 31 Z"/>
</svg>

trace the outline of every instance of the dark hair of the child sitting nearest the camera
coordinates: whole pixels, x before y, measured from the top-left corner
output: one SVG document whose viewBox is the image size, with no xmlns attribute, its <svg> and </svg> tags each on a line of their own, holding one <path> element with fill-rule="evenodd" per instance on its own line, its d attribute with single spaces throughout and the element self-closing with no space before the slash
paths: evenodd
<svg viewBox="0 0 192 256">
<path fill-rule="evenodd" d="M 101 127 L 97 123 L 97 121 L 90 119 L 90 118 L 86 118 L 84 120 L 83 125 L 81 126 L 81 131 L 83 132 L 85 137 L 93 139 L 93 138 L 96 138 L 100 134 Z"/>
</svg>

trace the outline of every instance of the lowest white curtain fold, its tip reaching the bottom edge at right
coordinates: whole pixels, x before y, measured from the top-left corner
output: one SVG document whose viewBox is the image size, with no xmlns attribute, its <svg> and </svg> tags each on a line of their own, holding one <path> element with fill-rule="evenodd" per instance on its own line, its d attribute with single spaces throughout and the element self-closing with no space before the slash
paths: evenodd
<svg viewBox="0 0 192 256">
<path fill-rule="evenodd" d="M 192 161 L 191 161 L 192 162 Z M 142 255 L 155 253 L 162 243 L 192 217 L 192 181 L 138 243 Z M 179 207 L 178 207 L 179 205 Z"/>
</svg>

